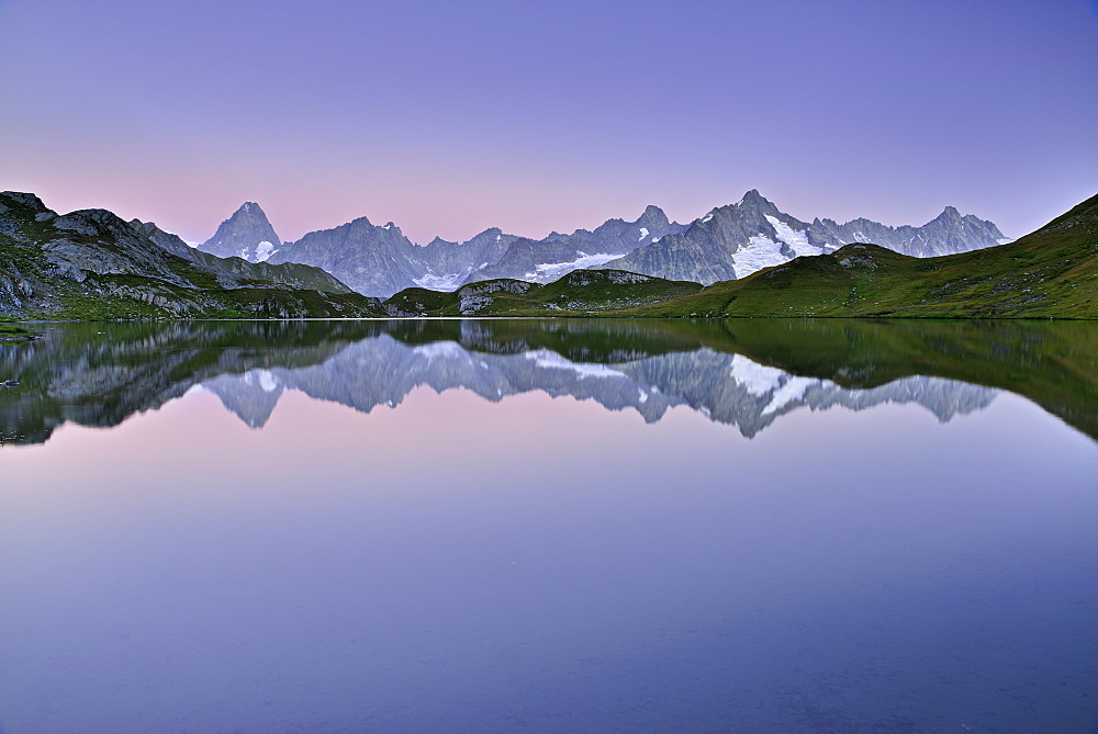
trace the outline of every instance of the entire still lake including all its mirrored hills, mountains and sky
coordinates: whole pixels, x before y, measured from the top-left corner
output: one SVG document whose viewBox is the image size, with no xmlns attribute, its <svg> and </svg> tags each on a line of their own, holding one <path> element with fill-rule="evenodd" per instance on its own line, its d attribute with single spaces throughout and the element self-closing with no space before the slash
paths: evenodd
<svg viewBox="0 0 1098 734">
<path fill-rule="evenodd" d="M 1098 726 L 1098 325 L 41 329 L 0 732 Z"/>
</svg>

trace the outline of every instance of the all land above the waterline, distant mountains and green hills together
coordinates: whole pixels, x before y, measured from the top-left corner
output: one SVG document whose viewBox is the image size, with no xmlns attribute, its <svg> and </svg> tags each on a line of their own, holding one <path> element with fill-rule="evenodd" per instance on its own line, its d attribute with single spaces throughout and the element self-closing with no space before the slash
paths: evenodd
<svg viewBox="0 0 1098 734">
<path fill-rule="evenodd" d="M 999 232 L 950 208 L 918 228 L 805 224 L 753 191 L 685 228 L 653 206 L 634 222 L 612 219 L 546 240 L 490 229 L 463 244 L 436 239 L 427 247 L 410 242 L 393 223 L 376 226 L 365 217 L 278 248 L 265 245 L 269 239 L 248 245 L 242 233 L 277 236 L 257 204 L 237 214 L 219 229 L 220 241 L 245 255 L 258 249 L 265 260 L 221 258 L 153 223 L 124 222 L 105 210 L 60 215 L 34 194 L 3 192 L 0 318 L 1098 317 L 1098 196 L 1016 241 L 934 257 L 841 241 L 872 235 L 897 249 L 932 252 L 972 247 Z M 609 251 L 632 247 L 631 252 Z M 736 245 L 744 238 L 746 246 Z M 589 253 L 596 249 L 607 251 Z M 330 270 L 283 261 L 294 252 Z M 572 256 L 579 257 L 563 259 Z M 522 272 L 489 278 L 508 269 Z M 637 272 L 643 270 L 679 279 Z M 354 291 L 338 273 L 357 279 L 360 290 L 388 291 L 402 279 L 422 285 L 382 301 Z M 719 276 L 729 278 L 710 282 Z M 426 287 L 462 280 L 453 291 Z"/>
</svg>

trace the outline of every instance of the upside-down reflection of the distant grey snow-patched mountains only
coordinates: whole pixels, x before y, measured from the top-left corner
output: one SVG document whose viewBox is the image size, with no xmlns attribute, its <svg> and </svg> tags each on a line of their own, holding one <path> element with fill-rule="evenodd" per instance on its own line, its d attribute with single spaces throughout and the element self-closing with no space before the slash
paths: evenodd
<svg viewBox="0 0 1098 734">
<path fill-rule="evenodd" d="M 257 369 L 203 384 L 249 426 L 261 427 L 285 389 L 369 413 L 399 405 L 414 388 L 464 387 L 489 400 L 540 391 L 632 408 L 648 422 L 685 405 L 752 437 L 798 407 L 855 410 L 883 403 L 922 405 L 946 421 L 987 407 L 998 391 L 941 377 L 912 376 L 870 389 L 799 377 L 740 354 L 702 348 L 627 362 L 573 362 L 549 349 L 515 354 L 469 351 L 456 341 L 404 345 L 388 335 L 345 347 L 322 364 Z"/>
</svg>

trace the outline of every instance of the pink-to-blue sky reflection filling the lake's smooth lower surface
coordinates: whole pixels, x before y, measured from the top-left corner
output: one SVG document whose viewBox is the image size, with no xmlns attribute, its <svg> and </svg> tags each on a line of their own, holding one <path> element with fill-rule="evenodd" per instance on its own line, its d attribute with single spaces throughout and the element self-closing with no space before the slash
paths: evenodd
<svg viewBox="0 0 1098 734">
<path fill-rule="evenodd" d="M 200 391 L 0 465 L 3 731 L 1098 723 L 1098 447 L 1009 394 Z"/>
</svg>

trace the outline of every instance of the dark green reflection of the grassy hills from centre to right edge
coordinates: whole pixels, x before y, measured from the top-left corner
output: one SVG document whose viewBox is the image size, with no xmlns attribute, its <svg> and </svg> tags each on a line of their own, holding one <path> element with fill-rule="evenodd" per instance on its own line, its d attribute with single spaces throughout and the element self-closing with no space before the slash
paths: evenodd
<svg viewBox="0 0 1098 734">
<path fill-rule="evenodd" d="M 1087 321 L 493 319 L 379 327 L 410 343 L 452 340 L 492 353 L 550 349 L 602 363 L 707 348 L 843 387 L 945 377 L 1017 393 L 1098 438 L 1098 325 Z"/>
</svg>

